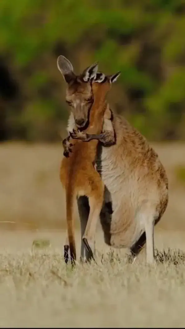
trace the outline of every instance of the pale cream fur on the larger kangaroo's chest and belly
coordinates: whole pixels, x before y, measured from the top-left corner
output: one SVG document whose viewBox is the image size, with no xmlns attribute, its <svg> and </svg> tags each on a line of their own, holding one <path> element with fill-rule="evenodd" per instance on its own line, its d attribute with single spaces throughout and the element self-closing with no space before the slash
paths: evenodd
<svg viewBox="0 0 185 329">
<path fill-rule="evenodd" d="M 97 157 L 97 170 L 106 186 L 105 202 L 112 204 L 111 219 L 106 216 L 104 221 L 110 221 L 110 243 L 114 247 L 130 247 L 138 240 L 145 230 L 143 214 L 150 209 L 155 212 L 160 199 L 150 168 L 137 166 L 139 160 L 133 157 L 120 140 L 114 146 L 100 147 Z"/>
</svg>

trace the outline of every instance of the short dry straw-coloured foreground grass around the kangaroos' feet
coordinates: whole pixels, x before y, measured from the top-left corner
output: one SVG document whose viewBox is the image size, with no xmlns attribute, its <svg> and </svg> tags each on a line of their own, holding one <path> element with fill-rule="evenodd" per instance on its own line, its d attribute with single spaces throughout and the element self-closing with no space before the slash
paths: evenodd
<svg viewBox="0 0 185 329">
<path fill-rule="evenodd" d="M 39 238 L 51 245 L 32 252 Z M 98 237 L 98 266 L 77 264 L 74 271 L 63 263 L 63 238 L 1 233 L 1 327 L 184 327 L 185 235 L 158 233 L 154 266 L 144 255 L 128 264 L 123 250 L 110 252 Z"/>
</svg>

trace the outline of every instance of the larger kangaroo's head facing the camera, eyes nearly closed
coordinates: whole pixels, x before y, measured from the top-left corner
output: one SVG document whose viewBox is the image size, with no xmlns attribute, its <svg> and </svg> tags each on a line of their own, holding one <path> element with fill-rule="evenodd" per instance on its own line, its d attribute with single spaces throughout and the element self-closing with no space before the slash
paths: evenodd
<svg viewBox="0 0 185 329">
<path fill-rule="evenodd" d="M 92 79 L 95 78 L 98 63 L 87 67 L 80 75 L 73 71 L 73 65 L 64 56 L 59 56 L 57 66 L 67 82 L 66 102 L 73 113 L 78 129 L 84 130 L 89 124 L 89 112 L 93 104 Z"/>
</svg>

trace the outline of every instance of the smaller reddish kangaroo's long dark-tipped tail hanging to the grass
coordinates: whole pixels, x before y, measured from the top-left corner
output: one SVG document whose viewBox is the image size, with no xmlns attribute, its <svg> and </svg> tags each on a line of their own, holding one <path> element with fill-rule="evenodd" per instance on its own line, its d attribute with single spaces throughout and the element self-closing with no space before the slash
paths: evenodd
<svg viewBox="0 0 185 329">
<path fill-rule="evenodd" d="M 76 245 L 75 245 L 75 229 L 74 229 L 74 220 L 73 220 L 73 205 L 74 197 L 72 189 L 69 188 L 66 190 L 66 218 L 67 218 L 67 232 L 68 232 L 68 241 L 69 241 L 69 250 L 71 255 L 71 264 L 75 265 L 76 262 Z"/>
</svg>

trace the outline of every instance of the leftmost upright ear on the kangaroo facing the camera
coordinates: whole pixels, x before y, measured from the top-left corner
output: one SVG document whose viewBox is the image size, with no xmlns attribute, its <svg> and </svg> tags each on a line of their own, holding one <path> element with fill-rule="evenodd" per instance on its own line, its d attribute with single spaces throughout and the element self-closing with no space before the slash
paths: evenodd
<svg viewBox="0 0 185 329">
<path fill-rule="evenodd" d="M 73 65 L 67 58 L 62 55 L 58 56 L 57 67 L 68 84 L 75 80 L 76 75 L 73 72 Z"/>
</svg>

